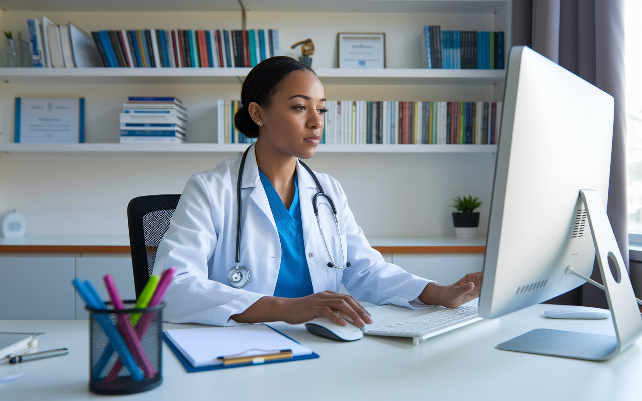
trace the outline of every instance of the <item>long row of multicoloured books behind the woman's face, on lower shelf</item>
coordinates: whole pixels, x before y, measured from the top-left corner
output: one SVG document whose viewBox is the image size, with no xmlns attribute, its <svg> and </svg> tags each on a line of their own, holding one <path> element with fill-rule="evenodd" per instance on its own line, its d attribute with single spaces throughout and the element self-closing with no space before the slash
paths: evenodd
<svg viewBox="0 0 642 401">
<path fill-rule="evenodd" d="M 252 143 L 234 128 L 239 100 L 218 101 L 218 143 Z M 326 101 L 323 144 L 497 144 L 501 102 Z"/>
</svg>

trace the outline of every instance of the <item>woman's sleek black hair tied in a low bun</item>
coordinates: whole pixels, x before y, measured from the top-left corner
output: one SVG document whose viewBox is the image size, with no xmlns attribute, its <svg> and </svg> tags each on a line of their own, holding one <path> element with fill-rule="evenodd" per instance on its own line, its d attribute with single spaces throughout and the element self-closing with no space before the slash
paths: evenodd
<svg viewBox="0 0 642 401">
<path fill-rule="evenodd" d="M 308 64 L 288 56 L 274 56 L 263 60 L 254 67 L 243 82 L 241 104 L 234 115 L 234 126 L 248 138 L 259 137 L 259 126 L 254 123 L 247 105 L 252 102 L 261 107 L 270 107 L 270 101 L 276 92 L 277 85 L 286 75 L 293 71 L 307 70 L 315 72 Z"/>
</svg>

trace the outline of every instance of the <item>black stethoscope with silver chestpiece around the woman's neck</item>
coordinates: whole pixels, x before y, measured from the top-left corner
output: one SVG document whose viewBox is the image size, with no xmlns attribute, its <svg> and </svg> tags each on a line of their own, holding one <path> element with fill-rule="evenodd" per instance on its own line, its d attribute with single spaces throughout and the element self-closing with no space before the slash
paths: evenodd
<svg viewBox="0 0 642 401">
<path fill-rule="evenodd" d="M 250 146 L 252 148 L 252 146 Z M 236 214 L 238 216 L 238 219 L 236 221 L 236 266 L 232 266 L 229 272 L 227 272 L 227 278 L 230 280 L 230 284 L 232 286 L 241 288 L 245 287 L 245 285 L 250 281 L 250 271 L 245 267 L 245 266 L 240 266 L 239 265 L 239 248 L 241 244 L 241 178 L 243 178 L 243 167 L 245 167 L 245 157 L 247 157 L 248 151 L 250 151 L 250 148 L 247 148 L 245 153 L 243 153 L 243 157 L 241 158 L 241 166 L 239 167 L 239 178 L 238 182 L 236 183 Z M 336 209 L 334 208 L 334 202 L 330 199 L 329 196 L 327 196 L 323 188 L 321 187 L 321 183 L 317 179 L 317 176 L 315 173 L 312 172 L 310 167 L 306 166 L 304 162 L 301 162 L 299 160 L 301 166 L 305 167 L 306 170 L 308 170 L 308 173 L 312 176 L 312 178 L 315 180 L 315 184 L 317 185 L 317 188 L 319 189 L 319 192 L 315 194 L 315 197 L 312 200 L 312 205 L 315 209 L 315 216 L 317 216 L 317 223 L 319 225 L 319 230 L 321 230 L 321 236 L 323 237 L 323 242 L 325 245 L 325 251 L 327 252 L 327 255 L 330 257 L 330 261 L 327 262 L 327 267 L 329 268 L 336 268 L 336 269 L 345 269 L 350 266 L 350 262 L 347 262 L 343 266 L 339 266 L 334 262 L 334 258 L 332 256 L 332 253 L 330 252 L 330 248 L 327 246 L 327 241 L 325 241 L 325 234 L 323 232 L 323 227 L 321 226 L 321 219 L 319 218 L 319 209 L 318 209 L 318 203 L 317 200 L 319 197 L 325 198 L 325 200 L 328 201 L 330 204 L 330 207 L 332 208 L 332 213 L 334 215 L 334 224 L 336 225 L 336 232 L 339 234 L 341 231 L 339 230 L 339 220 L 336 218 Z M 341 253 L 342 257 L 343 255 L 343 247 L 341 248 Z"/>
</svg>

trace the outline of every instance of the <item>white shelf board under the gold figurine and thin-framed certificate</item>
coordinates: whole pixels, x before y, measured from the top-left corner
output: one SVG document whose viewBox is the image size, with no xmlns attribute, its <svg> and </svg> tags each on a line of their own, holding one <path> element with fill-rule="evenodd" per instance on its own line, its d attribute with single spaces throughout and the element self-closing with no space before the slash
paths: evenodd
<svg viewBox="0 0 642 401">
<path fill-rule="evenodd" d="M 384 85 L 494 85 L 503 84 L 504 70 L 478 69 L 338 69 L 320 68 L 317 74 L 329 84 Z M 250 68 L 0 68 L 8 83 L 239 83 Z"/>
</svg>

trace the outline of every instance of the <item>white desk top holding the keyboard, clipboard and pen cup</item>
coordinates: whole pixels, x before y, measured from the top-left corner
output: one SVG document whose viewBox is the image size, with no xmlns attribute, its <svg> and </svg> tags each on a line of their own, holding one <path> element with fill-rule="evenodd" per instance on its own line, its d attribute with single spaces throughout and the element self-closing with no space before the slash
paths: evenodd
<svg viewBox="0 0 642 401">
<path fill-rule="evenodd" d="M 612 334 L 611 320 L 550 320 L 555 305 L 534 305 L 480 321 L 413 346 L 411 339 L 364 337 L 335 343 L 302 325 L 274 323 L 321 357 L 309 361 L 186 373 L 163 345 L 158 389 L 135 400 L 639 400 L 642 342 L 612 361 L 594 363 L 519 354 L 494 348 L 533 328 Z M 188 328 L 197 325 L 171 325 Z M 0 366 L 0 377 L 25 377 L 0 387 L 0 400 L 107 399 L 92 395 L 87 321 L 0 321 L 0 331 L 44 331 L 40 350 L 67 347 L 69 355 Z"/>
</svg>

